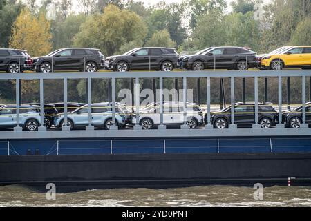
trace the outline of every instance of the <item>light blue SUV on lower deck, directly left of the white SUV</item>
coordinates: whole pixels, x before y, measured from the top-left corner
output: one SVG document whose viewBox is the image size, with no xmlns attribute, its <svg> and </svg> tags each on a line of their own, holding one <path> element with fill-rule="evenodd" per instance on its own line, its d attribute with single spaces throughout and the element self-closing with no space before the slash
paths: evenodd
<svg viewBox="0 0 311 221">
<path fill-rule="evenodd" d="M 115 105 L 115 122 L 117 126 L 126 126 L 126 117 L 129 113 L 124 111 L 123 106 L 116 103 Z M 55 126 L 61 128 L 64 126 L 64 114 L 55 118 Z M 112 106 L 111 103 L 92 104 L 92 120 L 91 124 L 97 128 L 109 130 L 113 125 Z M 88 104 L 77 108 L 72 113 L 68 113 L 68 126 L 71 129 L 88 126 Z"/>
</svg>

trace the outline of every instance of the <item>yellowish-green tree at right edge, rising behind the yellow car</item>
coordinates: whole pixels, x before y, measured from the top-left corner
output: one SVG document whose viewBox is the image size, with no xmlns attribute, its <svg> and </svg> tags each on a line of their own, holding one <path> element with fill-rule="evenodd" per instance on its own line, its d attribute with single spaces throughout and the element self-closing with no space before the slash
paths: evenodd
<svg viewBox="0 0 311 221">
<path fill-rule="evenodd" d="M 296 28 L 290 39 L 292 45 L 311 45 L 311 18 L 307 17 Z"/>
</svg>

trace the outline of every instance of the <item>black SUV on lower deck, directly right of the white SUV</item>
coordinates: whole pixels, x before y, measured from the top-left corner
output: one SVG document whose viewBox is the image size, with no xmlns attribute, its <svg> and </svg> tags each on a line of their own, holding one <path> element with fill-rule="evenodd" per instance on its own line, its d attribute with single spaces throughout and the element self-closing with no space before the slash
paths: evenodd
<svg viewBox="0 0 311 221">
<path fill-rule="evenodd" d="M 255 103 L 254 102 L 240 102 L 234 104 L 234 124 L 238 126 L 249 126 L 255 124 Z M 279 114 L 272 105 L 272 103 L 258 104 L 258 124 L 261 128 L 270 128 L 278 123 Z M 207 117 L 205 117 L 205 123 L 207 123 Z M 214 128 L 225 129 L 232 124 L 231 121 L 231 106 L 217 112 L 211 113 L 211 124 Z"/>
</svg>

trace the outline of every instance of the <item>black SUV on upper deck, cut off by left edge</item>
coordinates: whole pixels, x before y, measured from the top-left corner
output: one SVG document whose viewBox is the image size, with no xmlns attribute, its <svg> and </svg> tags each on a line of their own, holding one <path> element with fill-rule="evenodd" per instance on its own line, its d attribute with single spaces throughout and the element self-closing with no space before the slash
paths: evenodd
<svg viewBox="0 0 311 221">
<path fill-rule="evenodd" d="M 0 70 L 8 73 L 21 73 L 31 67 L 32 59 L 26 50 L 0 48 Z"/>
</svg>

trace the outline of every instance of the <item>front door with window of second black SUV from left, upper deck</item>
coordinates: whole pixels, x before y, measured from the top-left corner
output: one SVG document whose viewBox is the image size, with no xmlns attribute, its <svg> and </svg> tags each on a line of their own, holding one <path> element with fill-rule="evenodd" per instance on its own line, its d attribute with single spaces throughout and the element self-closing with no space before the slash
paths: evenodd
<svg viewBox="0 0 311 221">
<path fill-rule="evenodd" d="M 73 50 L 65 49 L 53 56 L 55 70 L 72 69 L 76 64 L 73 63 Z"/>
</svg>

